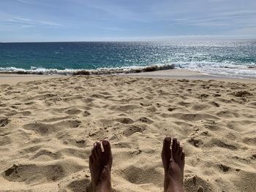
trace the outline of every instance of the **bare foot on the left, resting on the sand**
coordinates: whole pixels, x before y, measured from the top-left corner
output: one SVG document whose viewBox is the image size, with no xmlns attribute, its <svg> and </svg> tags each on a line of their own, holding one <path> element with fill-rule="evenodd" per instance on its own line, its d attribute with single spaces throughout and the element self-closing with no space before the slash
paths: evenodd
<svg viewBox="0 0 256 192">
<path fill-rule="evenodd" d="M 89 168 L 91 172 L 91 184 L 94 192 L 111 191 L 111 167 L 112 153 L 110 143 L 107 140 L 102 141 L 103 149 L 100 142 L 97 142 L 91 150 L 89 157 Z"/>
</svg>

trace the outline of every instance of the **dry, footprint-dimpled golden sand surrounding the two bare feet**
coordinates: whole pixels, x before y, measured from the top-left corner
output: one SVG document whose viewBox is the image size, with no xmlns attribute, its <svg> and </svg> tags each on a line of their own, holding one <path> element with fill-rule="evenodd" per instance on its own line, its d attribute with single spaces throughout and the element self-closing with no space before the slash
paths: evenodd
<svg viewBox="0 0 256 192">
<path fill-rule="evenodd" d="M 105 138 L 113 191 L 163 191 L 166 135 L 186 153 L 185 191 L 255 191 L 256 83 L 76 76 L 0 90 L 0 191 L 88 190 Z"/>
</svg>

